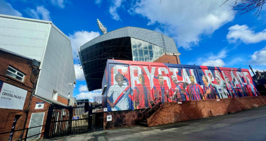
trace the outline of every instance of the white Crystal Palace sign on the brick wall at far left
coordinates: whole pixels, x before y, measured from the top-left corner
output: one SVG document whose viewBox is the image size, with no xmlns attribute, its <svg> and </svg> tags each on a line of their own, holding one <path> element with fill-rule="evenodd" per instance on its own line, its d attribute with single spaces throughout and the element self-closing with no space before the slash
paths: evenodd
<svg viewBox="0 0 266 141">
<path fill-rule="evenodd" d="M 0 108 L 22 110 L 27 91 L 0 81 Z"/>
</svg>

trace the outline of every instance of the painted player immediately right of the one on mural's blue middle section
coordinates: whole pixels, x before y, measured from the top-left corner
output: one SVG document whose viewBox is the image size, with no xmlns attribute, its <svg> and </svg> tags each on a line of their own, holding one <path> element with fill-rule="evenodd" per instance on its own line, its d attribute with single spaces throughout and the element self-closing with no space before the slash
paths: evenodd
<svg viewBox="0 0 266 141">
<path fill-rule="evenodd" d="M 204 83 L 203 92 L 205 99 L 218 99 L 219 97 L 217 95 L 216 90 L 212 85 L 209 85 L 209 80 L 205 75 L 202 76 L 202 81 Z"/>
</svg>

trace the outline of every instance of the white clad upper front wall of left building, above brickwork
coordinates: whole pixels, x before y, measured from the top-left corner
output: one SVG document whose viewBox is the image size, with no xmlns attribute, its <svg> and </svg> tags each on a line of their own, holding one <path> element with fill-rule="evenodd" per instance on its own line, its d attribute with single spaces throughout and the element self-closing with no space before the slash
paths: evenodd
<svg viewBox="0 0 266 141">
<path fill-rule="evenodd" d="M 41 61 L 51 22 L 0 15 L 0 23 L 0 48 Z"/>
</svg>

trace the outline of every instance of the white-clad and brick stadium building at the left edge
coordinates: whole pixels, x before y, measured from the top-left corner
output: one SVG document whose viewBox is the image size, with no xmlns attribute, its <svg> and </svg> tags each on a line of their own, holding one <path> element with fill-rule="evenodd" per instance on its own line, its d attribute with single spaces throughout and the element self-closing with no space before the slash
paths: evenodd
<svg viewBox="0 0 266 141">
<path fill-rule="evenodd" d="M 45 125 L 49 106 L 74 105 L 70 39 L 50 21 L 0 15 L 0 23 L 0 133 Z M 31 128 L 28 137 L 43 130 Z M 25 135 L 21 130 L 0 140 Z"/>
</svg>

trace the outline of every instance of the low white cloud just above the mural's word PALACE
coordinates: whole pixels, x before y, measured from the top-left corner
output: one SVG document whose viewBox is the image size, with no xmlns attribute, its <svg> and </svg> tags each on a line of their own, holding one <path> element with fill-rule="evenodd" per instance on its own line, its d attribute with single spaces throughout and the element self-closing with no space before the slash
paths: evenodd
<svg viewBox="0 0 266 141">
<path fill-rule="evenodd" d="M 227 55 L 226 49 L 221 50 L 218 54 L 208 53 L 204 57 L 200 57 L 196 62 L 191 62 L 190 64 L 202 65 L 202 66 L 225 66 L 226 63 L 223 62 L 223 58 Z"/>
</svg>

